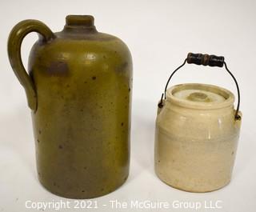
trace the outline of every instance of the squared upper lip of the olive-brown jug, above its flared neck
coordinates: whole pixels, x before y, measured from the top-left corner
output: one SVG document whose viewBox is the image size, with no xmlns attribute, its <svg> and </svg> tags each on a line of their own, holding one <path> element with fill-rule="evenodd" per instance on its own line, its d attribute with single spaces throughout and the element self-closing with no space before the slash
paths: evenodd
<svg viewBox="0 0 256 212">
<path fill-rule="evenodd" d="M 68 15 L 66 16 L 66 26 L 94 26 L 92 15 Z"/>
</svg>

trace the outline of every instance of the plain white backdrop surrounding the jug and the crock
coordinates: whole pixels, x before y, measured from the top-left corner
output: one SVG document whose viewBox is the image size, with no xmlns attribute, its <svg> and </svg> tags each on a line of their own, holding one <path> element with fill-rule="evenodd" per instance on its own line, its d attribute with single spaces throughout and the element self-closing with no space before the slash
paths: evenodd
<svg viewBox="0 0 256 212">
<path fill-rule="evenodd" d="M 39 19 L 53 31 L 59 31 L 65 24 L 66 14 L 94 15 L 97 29 L 122 38 L 130 47 L 134 59 L 130 176 L 118 190 L 95 199 L 99 209 L 92 211 L 122 211 L 101 206 L 114 199 L 120 202 L 159 200 L 170 203 L 175 200 L 202 203 L 221 200 L 222 209 L 202 208 L 198 211 L 255 211 L 254 0 L 1 0 L 0 211 L 35 211 L 26 209 L 27 200 L 66 200 L 50 194 L 38 182 L 30 110 L 26 105 L 25 92 L 11 70 L 6 54 L 8 34 L 17 22 L 26 18 Z M 23 42 L 24 64 L 27 63 L 30 47 L 36 39 L 36 34 L 30 34 Z M 238 78 L 242 95 L 242 131 L 233 179 L 222 190 L 206 194 L 175 190 L 162 183 L 154 174 L 154 120 L 157 102 L 170 72 L 183 62 L 190 51 L 224 55 L 230 70 Z M 234 82 L 221 68 L 187 64 L 175 75 L 170 85 L 182 82 L 215 84 L 236 94 Z M 168 211 L 195 210 L 171 208 Z"/>
</svg>

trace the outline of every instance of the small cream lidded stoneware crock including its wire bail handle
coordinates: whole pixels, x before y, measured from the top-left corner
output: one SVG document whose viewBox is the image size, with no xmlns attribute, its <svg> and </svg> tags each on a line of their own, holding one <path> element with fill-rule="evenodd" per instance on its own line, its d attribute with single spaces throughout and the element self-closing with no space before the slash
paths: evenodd
<svg viewBox="0 0 256 212">
<path fill-rule="evenodd" d="M 230 73 L 223 57 L 188 54 L 182 66 L 186 62 L 225 65 Z M 229 90 L 196 83 L 167 90 L 170 78 L 158 104 L 155 172 L 163 182 L 180 190 L 218 190 L 230 182 L 238 146 L 241 125 L 238 83 L 234 78 L 238 88 L 238 106 L 234 110 L 234 94 Z"/>
</svg>

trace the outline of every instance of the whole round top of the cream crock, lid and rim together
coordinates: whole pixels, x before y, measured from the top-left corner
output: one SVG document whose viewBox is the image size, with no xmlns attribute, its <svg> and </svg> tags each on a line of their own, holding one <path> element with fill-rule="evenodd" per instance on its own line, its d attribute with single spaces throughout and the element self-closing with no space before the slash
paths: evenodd
<svg viewBox="0 0 256 212">
<path fill-rule="evenodd" d="M 166 91 L 167 101 L 194 109 L 217 109 L 234 104 L 234 94 L 219 86 L 187 83 Z"/>
</svg>

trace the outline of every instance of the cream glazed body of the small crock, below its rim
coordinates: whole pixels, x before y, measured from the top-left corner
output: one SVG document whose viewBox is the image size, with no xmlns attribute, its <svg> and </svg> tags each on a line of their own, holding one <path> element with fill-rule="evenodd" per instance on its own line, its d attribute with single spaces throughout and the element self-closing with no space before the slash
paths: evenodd
<svg viewBox="0 0 256 212">
<path fill-rule="evenodd" d="M 155 172 L 163 182 L 191 192 L 218 190 L 230 182 L 241 121 L 233 106 L 185 108 L 166 101 L 158 111 Z"/>
</svg>

